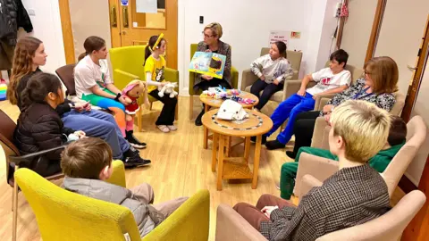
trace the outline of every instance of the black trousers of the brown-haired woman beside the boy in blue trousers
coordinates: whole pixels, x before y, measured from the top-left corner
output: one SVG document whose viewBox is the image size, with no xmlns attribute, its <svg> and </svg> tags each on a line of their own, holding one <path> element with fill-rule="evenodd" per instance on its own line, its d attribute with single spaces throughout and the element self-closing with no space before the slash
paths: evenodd
<svg viewBox="0 0 429 241">
<path fill-rule="evenodd" d="M 302 112 L 297 115 L 293 133 L 295 134 L 295 146 L 293 154 L 297 155 L 302 146 L 311 146 L 311 138 L 315 130 L 315 120 L 319 117 L 319 111 Z"/>
</svg>

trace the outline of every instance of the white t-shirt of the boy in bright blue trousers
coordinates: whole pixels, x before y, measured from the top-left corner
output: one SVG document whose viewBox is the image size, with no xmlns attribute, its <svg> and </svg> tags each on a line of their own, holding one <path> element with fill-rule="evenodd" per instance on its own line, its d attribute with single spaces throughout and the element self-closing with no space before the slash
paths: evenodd
<svg viewBox="0 0 429 241">
<path fill-rule="evenodd" d="M 314 87 L 307 88 L 307 93 L 315 96 L 328 89 L 350 85 L 350 71 L 343 70 L 337 74 L 333 74 L 330 68 L 324 68 L 320 71 L 312 73 L 311 76 L 317 82 Z"/>
</svg>

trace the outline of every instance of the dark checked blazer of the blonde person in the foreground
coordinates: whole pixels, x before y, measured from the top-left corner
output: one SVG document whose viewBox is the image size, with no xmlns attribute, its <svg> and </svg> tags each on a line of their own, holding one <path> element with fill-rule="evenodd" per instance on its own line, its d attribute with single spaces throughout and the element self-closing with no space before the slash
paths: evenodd
<svg viewBox="0 0 429 241">
<path fill-rule="evenodd" d="M 391 209 L 386 183 L 369 165 L 345 168 L 314 187 L 298 207 L 284 207 L 261 222 L 269 240 L 315 240 L 373 220 Z"/>
</svg>

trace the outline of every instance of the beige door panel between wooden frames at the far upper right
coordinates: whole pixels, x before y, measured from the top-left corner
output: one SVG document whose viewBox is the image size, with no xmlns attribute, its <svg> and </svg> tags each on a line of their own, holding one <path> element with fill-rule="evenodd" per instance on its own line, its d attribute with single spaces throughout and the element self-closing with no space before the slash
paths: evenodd
<svg viewBox="0 0 429 241">
<path fill-rule="evenodd" d="M 390 56 L 398 64 L 399 87 L 404 95 L 411 85 L 416 58 L 427 20 L 428 0 L 387 1 L 374 56 Z"/>
</svg>

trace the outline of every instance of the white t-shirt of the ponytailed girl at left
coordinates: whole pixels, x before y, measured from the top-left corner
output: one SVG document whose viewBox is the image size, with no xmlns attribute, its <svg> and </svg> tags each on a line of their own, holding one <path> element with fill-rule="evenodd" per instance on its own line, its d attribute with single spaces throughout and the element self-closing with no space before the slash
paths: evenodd
<svg viewBox="0 0 429 241">
<path fill-rule="evenodd" d="M 113 83 L 107 60 L 99 60 L 99 63 L 100 65 L 94 63 L 87 55 L 74 67 L 74 84 L 79 98 L 82 95 L 93 94 L 89 89 L 91 87 L 98 85 L 101 89 L 105 89 L 105 85 Z"/>
</svg>

